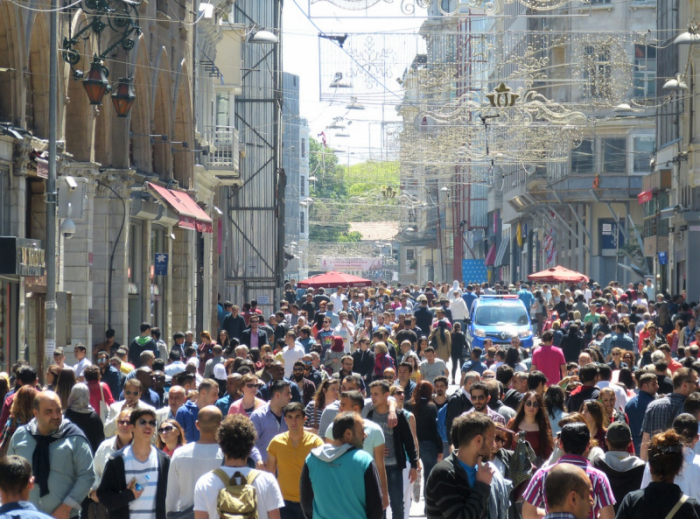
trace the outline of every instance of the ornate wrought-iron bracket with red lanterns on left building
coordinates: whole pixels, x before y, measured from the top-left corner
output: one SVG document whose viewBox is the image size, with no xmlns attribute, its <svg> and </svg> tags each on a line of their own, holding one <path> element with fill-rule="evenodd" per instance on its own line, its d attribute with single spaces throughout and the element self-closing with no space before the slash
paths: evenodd
<svg viewBox="0 0 700 519">
<path fill-rule="evenodd" d="M 63 38 L 61 54 L 63 60 L 68 63 L 73 71 L 73 79 L 82 80 L 85 93 L 92 105 L 101 105 L 106 93 L 112 90 L 109 84 L 109 69 L 105 65 L 107 56 L 119 47 L 125 51 L 132 50 L 136 45 L 136 38 L 141 34 L 139 26 L 138 8 L 142 4 L 141 1 L 134 0 L 85 0 L 80 3 L 80 8 L 84 12 L 87 19 L 79 26 L 80 29 L 75 33 L 69 32 L 68 36 Z M 79 49 L 80 45 L 89 39 L 88 32 L 92 32 L 101 38 L 103 31 L 109 28 L 110 34 L 114 36 L 105 45 L 105 50 L 101 54 L 95 54 L 90 70 L 78 70 L 77 65 L 82 61 L 82 53 Z M 123 79 L 119 80 L 118 89 L 121 89 Z M 122 89 L 123 90 L 123 89 Z M 127 88 L 128 90 L 128 88 Z M 133 95 L 133 90 L 131 91 Z M 133 96 L 131 102 L 127 102 L 128 93 L 122 93 L 117 96 L 117 102 L 112 102 L 117 109 L 118 117 L 127 117 L 131 105 L 133 104 Z"/>
</svg>

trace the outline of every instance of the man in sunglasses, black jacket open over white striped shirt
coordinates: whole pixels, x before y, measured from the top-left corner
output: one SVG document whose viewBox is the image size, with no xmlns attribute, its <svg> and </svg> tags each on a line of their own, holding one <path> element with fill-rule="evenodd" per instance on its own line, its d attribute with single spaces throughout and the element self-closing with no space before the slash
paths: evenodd
<svg viewBox="0 0 700 519">
<path fill-rule="evenodd" d="M 152 444 L 156 413 L 137 408 L 129 421 L 134 439 L 107 460 L 97 498 L 109 511 L 110 519 L 165 519 L 170 458 Z"/>
</svg>

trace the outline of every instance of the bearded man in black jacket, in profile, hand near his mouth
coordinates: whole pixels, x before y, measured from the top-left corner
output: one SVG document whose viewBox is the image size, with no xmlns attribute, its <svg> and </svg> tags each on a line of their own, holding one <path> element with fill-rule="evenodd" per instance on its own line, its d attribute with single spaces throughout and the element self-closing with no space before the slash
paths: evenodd
<svg viewBox="0 0 700 519">
<path fill-rule="evenodd" d="M 481 413 L 454 421 L 451 439 L 456 450 L 433 467 L 425 485 L 428 519 L 490 516 L 496 471 L 486 461 L 495 434 L 493 421 Z M 498 497 L 505 499 L 507 509 L 508 494 Z"/>
</svg>

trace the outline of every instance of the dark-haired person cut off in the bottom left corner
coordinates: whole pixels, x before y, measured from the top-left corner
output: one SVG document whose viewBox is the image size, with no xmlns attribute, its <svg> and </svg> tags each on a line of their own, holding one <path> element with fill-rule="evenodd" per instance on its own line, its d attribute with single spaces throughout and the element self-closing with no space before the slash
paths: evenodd
<svg viewBox="0 0 700 519">
<path fill-rule="evenodd" d="M 0 519 L 51 519 L 29 501 L 35 478 L 32 466 L 21 456 L 0 460 Z"/>
</svg>

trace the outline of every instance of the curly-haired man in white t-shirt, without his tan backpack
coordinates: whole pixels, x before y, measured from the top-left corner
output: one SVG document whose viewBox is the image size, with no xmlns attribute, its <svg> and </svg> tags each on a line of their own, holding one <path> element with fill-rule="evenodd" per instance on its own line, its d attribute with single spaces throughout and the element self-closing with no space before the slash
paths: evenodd
<svg viewBox="0 0 700 519">
<path fill-rule="evenodd" d="M 218 439 L 224 464 L 204 474 L 194 487 L 194 518 L 219 519 L 216 501 L 219 491 L 239 472 L 255 488 L 258 519 L 279 519 L 284 499 L 277 479 L 268 472 L 248 468 L 248 457 L 255 446 L 255 427 L 243 415 L 230 415 L 221 424 Z M 252 474 L 251 474 L 252 472 Z M 242 482 L 241 482 L 242 483 Z"/>
</svg>

